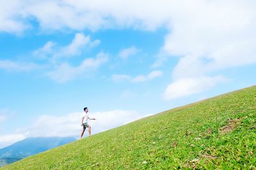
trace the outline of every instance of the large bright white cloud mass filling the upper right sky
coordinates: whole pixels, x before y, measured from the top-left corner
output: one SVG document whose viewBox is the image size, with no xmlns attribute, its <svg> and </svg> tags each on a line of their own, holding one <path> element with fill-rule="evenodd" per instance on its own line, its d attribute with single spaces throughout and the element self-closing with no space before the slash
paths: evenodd
<svg viewBox="0 0 256 170">
<path fill-rule="evenodd" d="M 170 11 L 164 46 L 153 67 L 169 57 L 179 57 L 173 69 L 173 81 L 164 92 L 165 99 L 189 96 L 211 89 L 221 80 L 205 78 L 221 69 L 256 63 L 255 2 L 253 1 L 191 1 L 188 8 L 177 1 L 177 10 Z M 180 9 L 179 9 L 180 8 Z M 183 8 L 183 9 L 182 9 Z M 186 13 L 184 13 L 186 11 Z M 184 85 L 182 85 L 184 83 Z M 202 87 L 193 87 L 193 83 Z M 202 86 L 201 86 L 202 85 Z"/>
</svg>

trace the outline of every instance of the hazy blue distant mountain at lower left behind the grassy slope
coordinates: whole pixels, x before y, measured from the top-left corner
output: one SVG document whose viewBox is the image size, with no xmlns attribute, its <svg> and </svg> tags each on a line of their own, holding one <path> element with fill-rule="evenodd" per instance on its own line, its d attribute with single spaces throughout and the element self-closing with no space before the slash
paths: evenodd
<svg viewBox="0 0 256 170">
<path fill-rule="evenodd" d="M 18 141 L 13 145 L 0 149 L 0 167 L 75 140 L 75 138 L 71 137 L 38 137 Z"/>
</svg>

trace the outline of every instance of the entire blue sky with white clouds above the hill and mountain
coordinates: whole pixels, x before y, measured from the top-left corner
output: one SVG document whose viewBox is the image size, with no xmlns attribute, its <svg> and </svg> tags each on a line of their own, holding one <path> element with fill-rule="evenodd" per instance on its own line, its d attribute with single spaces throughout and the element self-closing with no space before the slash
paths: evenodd
<svg viewBox="0 0 256 170">
<path fill-rule="evenodd" d="M 78 137 L 84 106 L 96 133 L 255 85 L 253 1 L 0 6 L 0 148 Z"/>
</svg>

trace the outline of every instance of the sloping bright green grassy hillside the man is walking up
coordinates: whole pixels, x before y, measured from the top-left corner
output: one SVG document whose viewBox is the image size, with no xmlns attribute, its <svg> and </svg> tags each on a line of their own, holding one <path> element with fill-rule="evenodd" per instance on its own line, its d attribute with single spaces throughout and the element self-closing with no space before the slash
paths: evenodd
<svg viewBox="0 0 256 170">
<path fill-rule="evenodd" d="M 256 86 L 142 118 L 2 169 L 256 169 L 255 139 Z"/>
</svg>

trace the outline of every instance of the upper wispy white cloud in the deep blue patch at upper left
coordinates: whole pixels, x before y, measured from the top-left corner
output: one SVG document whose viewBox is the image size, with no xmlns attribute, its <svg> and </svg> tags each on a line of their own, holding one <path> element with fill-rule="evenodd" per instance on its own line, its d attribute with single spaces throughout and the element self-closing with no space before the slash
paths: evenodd
<svg viewBox="0 0 256 170">
<path fill-rule="evenodd" d="M 33 55 L 40 59 L 56 60 L 61 57 L 72 57 L 80 55 L 87 48 L 92 48 L 99 45 L 100 40 L 92 41 L 90 36 L 85 36 L 83 33 L 76 33 L 72 42 L 67 46 L 58 46 L 52 41 L 48 41 L 42 48 L 33 52 Z"/>
</svg>

